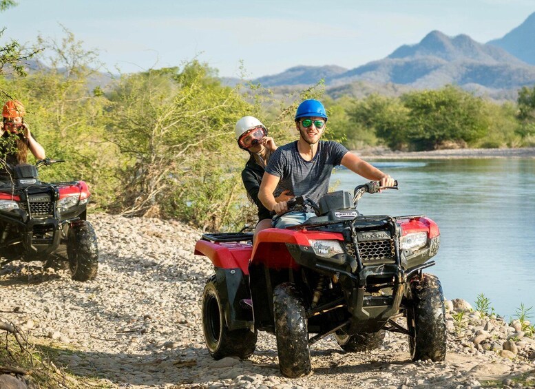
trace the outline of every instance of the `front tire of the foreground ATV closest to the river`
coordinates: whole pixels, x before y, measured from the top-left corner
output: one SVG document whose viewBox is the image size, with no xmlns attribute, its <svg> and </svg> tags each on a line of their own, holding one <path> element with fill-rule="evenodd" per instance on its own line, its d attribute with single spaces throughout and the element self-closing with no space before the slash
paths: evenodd
<svg viewBox="0 0 535 389">
<path fill-rule="evenodd" d="M 446 354 L 445 308 L 439 279 L 424 273 L 410 282 L 412 304 L 407 308 L 410 357 L 413 361 L 443 361 Z"/>
</svg>

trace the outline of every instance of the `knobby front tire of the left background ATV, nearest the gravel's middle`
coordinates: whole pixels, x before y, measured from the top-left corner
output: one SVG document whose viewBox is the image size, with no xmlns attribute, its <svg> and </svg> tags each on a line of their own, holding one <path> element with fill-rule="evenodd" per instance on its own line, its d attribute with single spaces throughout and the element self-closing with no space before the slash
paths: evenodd
<svg viewBox="0 0 535 389">
<path fill-rule="evenodd" d="M 75 281 L 94 280 L 98 271 L 98 245 L 90 222 L 81 220 L 69 229 L 67 257 Z"/>
</svg>

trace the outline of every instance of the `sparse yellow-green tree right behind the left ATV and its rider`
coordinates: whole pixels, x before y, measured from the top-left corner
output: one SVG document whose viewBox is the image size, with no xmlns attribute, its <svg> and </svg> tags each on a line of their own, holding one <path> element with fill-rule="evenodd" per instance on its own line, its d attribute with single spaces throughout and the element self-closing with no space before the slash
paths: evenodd
<svg viewBox="0 0 535 389">
<path fill-rule="evenodd" d="M 47 156 L 64 159 L 62 165 L 42 169 L 43 180 L 85 180 L 92 203 L 106 207 L 115 200 L 120 164 L 116 147 L 105 141 L 103 111 L 107 99 L 94 96 L 90 81 L 98 74 L 96 53 L 85 50 L 71 32 L 60 41 L 39 37 L 46 48 L 36 54 L 41 69 L 28 76 L 0 78 L 0 89 L 26 107 L 25 122 L 45 148 Z M 30 153 L 30 162 L 32 160 Z"/>
</svg>

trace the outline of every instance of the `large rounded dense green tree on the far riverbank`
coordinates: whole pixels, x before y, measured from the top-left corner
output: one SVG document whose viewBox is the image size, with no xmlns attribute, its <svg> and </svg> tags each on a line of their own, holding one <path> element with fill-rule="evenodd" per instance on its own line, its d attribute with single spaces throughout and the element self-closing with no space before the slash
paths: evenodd
<svg viewBox="0 0 535 389">
<path fill-rule="evenodd" d="M 483 99 L 448 85 L 401 96 L 408 112 L 407 138 L 416 149 L 474 143 L 487 134 Z"/>
</svg>

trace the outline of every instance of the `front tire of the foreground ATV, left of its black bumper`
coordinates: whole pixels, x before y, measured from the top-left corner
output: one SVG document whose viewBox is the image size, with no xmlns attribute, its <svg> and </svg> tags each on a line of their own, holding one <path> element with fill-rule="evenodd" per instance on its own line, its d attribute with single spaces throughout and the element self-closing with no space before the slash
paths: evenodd
<svg viewBox="0 0 535 389">
<path fill-rule="evenodd" d="M 307 375 L 312 370 L 308 324 L 301 293 L 294 284 L 285 282 L 275 287 L 273 315 L 280 372 L 290 378 Z"/>
</svg>

